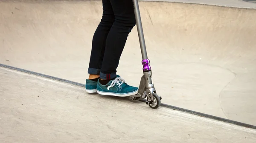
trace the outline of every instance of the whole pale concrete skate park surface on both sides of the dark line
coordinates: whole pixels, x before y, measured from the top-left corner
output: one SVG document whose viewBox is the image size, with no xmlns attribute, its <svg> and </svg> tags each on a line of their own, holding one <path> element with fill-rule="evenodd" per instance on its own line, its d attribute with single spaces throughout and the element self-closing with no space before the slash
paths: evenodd
<svg viewBox="0 0 256 143">
<path fill-rule="evenodd" d="M 179 2 L 139 2 L 154 110 L 84 90 L 101 1 L 0 0 L 0 142 L 254 143 L 256 4 Z M 141 60 L 134 27 L 118 74 Z"/>
</svg>

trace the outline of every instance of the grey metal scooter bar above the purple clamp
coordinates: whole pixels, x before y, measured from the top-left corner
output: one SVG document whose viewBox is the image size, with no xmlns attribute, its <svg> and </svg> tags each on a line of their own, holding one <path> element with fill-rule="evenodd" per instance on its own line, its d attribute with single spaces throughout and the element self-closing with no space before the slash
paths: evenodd
<svg viewBox="0 0 256 143">
<path fill-rule="evenodd" d="M 142 58 L 144 60 L 144 59 L 148 59 L 148 55 L 147 55 L 142 22 L 140 17 L 140 8 L 139 8 L 138 0 L 133 0 L 133 2 L 134 2 L 134 14 L 136 18 L 137 30 L 138 30 L 138 35 L 140 39 L 140 50 L 141 50 Z"/>
</svg>

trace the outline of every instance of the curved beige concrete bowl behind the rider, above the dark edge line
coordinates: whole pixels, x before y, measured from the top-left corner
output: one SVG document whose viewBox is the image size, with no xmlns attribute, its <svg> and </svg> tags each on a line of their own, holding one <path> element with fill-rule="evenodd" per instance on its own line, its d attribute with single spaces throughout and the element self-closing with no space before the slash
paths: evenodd
<svg viewBox="0 0 256 143">
<path fill-rule="evenodd" d="M 12 0 L 0 9 L 0 63 L 85 83 L 100 1 Z M 256 125 L 255 9 L 140 2 L 140 10 L 163 103 Z M 117 70 L 139 85 L 136 27 Z"/>
</svg>

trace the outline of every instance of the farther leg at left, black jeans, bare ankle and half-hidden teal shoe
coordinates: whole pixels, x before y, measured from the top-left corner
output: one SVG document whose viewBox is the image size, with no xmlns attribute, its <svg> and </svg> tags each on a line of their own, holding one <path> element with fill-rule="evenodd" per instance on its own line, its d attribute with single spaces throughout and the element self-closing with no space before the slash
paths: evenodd
<svg viewBox="0 0 256 143">
<path fill-rule="evenodd" d="M 105 52 L 106 39 L 114 22 L 114 14 L 110 0 L 102 0 L 102 6 L 102 19 L 93 35 L 92 50 L 88 68 L 89 78 L 86 80 L 86 90 L 88 93 L 96 92 L 97 81 L 99 79 L 99 73 Z"/>
</svg>

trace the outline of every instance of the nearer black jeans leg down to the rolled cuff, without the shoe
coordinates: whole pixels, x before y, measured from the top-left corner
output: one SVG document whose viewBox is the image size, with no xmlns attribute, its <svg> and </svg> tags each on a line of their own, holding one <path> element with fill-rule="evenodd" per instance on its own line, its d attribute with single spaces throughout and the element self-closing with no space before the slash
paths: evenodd
<svg viewBox="0 0 256 143">
<path fill-rule="evenodd" d="M 100 72 L 100 78 L 104 80 L 116 78 L 116 68 L 118 67 L 128 34 L 136 25 L 132 0 L 110 1 L 115 21 L 106 40 L 105 54 Z"/>
</svg>

